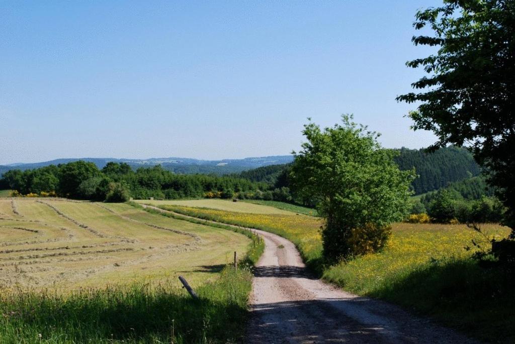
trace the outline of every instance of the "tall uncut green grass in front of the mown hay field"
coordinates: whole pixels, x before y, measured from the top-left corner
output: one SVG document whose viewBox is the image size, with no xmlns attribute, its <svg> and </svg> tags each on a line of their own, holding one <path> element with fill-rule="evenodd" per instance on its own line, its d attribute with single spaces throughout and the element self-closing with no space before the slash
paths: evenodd
<svg viewBox="0 0 515 344">
<path fill-rule="evenodd" d="M 243 335 L 252 275 L 226 267 L 199 300 L 164 283 L 0 296 L 1 343 L 226 343 Z"/>
</svg>

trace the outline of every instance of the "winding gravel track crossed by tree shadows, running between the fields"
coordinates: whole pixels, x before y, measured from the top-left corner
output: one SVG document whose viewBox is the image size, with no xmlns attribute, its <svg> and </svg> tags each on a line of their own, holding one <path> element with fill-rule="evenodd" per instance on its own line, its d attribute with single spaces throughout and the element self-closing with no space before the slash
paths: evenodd
<svg viewBox="0 0 515 344">
<path fill-rule="evenodd" d="M 477 343 L 397 306 L 324 283 L 307 271 L 293 243 L 255 232 L 264 238 L 265 251 L 255 267 L 246 343 Z"/>
</svg>

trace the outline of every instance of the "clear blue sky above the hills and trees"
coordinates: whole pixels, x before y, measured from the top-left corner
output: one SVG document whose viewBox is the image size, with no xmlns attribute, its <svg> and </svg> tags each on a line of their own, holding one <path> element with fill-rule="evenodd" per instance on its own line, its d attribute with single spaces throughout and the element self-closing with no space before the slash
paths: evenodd
<svg viewBox="0 0 515 344">
<path fill-rule="evenodd" d="M 395 97 L 429 52 L 415 12 L 438 4 L 3 0 L 0 164 L 288 154 L 307 117 L 342 113 L 384 147 L 425 147 Z"/>
</svg>

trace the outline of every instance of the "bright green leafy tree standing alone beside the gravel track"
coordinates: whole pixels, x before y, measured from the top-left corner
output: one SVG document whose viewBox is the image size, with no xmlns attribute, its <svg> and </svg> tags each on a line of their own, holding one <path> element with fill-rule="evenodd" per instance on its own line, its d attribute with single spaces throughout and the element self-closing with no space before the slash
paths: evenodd
<svg viewBox="0 0 515 344">
<path fill-rule="evenodd" d="M 379 134 L 342 116 L 342 124 L 304 125 L 307 142 L 295 154 L 290 178 L 300 195 L 315 198 L 324 219 L 324 256 L 330 261 L 381 249 L 390 224 L 409 209 L 415 172 L 400 171 L 397 154 L 381 148 Z"/>
</svg>

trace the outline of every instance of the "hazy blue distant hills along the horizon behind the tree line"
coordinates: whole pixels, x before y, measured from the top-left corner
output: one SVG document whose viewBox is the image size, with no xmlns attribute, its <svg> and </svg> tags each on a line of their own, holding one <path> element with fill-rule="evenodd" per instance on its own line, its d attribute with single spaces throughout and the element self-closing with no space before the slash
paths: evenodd
<svg viewBox="0 0 515 344">
<path fill-rule="evenodd" d="M 93 162 L 98 168 L 103 168 L 108 162 L 125 162 L 133 169 L 161 165 L 164 169 L 180 174 L 232 174 L 255 169 L 258 167 L 287 164 L 293 161 L 291 155 L 250 157 L 244 159 L 200 160 L 192 158 L 150 158 L 150 159 L 116 159 L 116 158 L 65 158 L 30 164 L 0 165 L 0 175 L 13 169 L 30 170 L 48 165 L 66 164 L 67 162 L 84 160 Z"/>
</svg>

